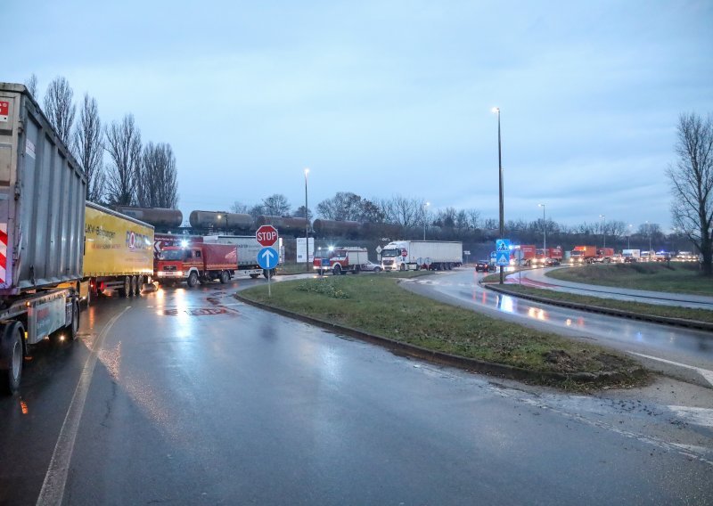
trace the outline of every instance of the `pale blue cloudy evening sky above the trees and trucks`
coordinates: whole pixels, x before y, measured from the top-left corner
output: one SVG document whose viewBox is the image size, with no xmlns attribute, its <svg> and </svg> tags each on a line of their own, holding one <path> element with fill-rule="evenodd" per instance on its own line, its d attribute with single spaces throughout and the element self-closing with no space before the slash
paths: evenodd
<svg viewBox="0 0 713 506">
<path fill-rule="evenodd" d="M 64 76 L 176 153 L 180 202 L 545 203 L 667 231 L 681 112 L 713 112 L 713 2 L 4 0 L 2 80 Z M 10 42 L 10 46 L 7 43 Z"/>
</svg>

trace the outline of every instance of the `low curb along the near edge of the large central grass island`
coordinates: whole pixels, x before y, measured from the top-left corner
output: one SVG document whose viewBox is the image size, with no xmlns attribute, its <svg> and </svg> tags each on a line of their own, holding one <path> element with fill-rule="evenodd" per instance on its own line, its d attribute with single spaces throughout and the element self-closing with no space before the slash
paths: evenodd
<svg viewBox="0 0 713 506">
<path fill-rule="evenodd" d="M 319 318 L 306 316 L 305 314 L 293 313 L 280 307 L 270 306 L 261 302 L 255 302 L 254 300 L 242 297 L 239 293 L 234 293 L 233 296 L 234 298 L 237 298 L 241 302 L 249 304 L 250 306 L 265 309 L 266 311 L 281 314 L 283 316 L 287 316 L 288 318 L 299 320 L 301 322 L 307 322 L 312 325 L 316 325 L 317 327 L 322 327 L 323 329 L 326 329 L 328 331 L 348 335 L 352 338 L 376 344 L 381 347 L 387 348 L 389 351 L 394 352 L 397 355 L 411 356 L 414 358 L 420 358 L 431 363 L 450 365 L 459 369 L 464 369 L 466 371 L 500 376 L 503 378 L 509 378 L 511 380 L 520 380 L 525 382 L 530 381 L 537 383 L 563 383 L 565 381 L 570 380 L 578 383 L 605 385 L 611 383 L 619 383 L 624 380 L 630 380 L 632 378 L 641 378 L 647 374 L 647 371 L 643 367 L 635 368 L 633 370 L 627 371 L 626 373 L 574 372 L 571 374 L 566 374 L 563 372 L 530 371 L 529 369 L 522 369 L 520 367 L 514 367 L 512 365 L 484 362 L 474 358 L 467 358 L 464 356 L 451 355 L 436 350 L 430 350 L 424 347 L 419 347 L 416 345 L 397 341 L 395 339 L 389 339 L 376 334 L 370 334 L 368 332 L 353 329 L 351 327 L 346 327 L 344 325 L 338 325 L 332 322 L 325 322 L 324 320 L 320 320 Z"/>
</svg>

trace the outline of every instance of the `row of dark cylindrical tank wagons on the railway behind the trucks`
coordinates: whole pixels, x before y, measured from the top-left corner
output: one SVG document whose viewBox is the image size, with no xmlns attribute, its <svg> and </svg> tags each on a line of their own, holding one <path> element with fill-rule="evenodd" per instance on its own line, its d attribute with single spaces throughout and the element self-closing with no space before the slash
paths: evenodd
<svg viewBox="0 0 713 506">
<path fill-rule="evenodd" d="M 190 227 L 183 227 L 183 213 L 178 209 L 135 208 L 114 206 L 114 209 L 143 222 L 152 224 L 157 232 L 178 232 L 202 235 L 206 233 L 250 234 L 264 224 L 271 224 L 286 237 L 304 237 L 307 227 L 310 235 L 317 239 L 381 239 L 397 237 L 401 226 L 389 223 L 360 223 L 356 221 L 337 221 L 317 218 L 311 224 L 302 217 L 267 216 L 253 217 L 242 213 L 219 211 L 191 212 L 188 218 Z"/>
</svg>

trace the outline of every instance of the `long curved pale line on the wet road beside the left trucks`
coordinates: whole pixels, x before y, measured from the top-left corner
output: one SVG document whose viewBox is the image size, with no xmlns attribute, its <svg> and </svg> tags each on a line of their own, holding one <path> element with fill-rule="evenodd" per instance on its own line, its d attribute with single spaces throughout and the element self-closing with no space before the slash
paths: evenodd
<svg viewBox="0 0 713 506">
<path fill-rule="evenodd" d="M 61 424 L 60 436 L 57 437 L 57 444 L 54 445 L 54 452 L 52 453 L 52 461 L 50 461 L 50 466 L 47 469 L 45 481 L 42 483 L 42 490 L 40 490 L 39 497 L 37 497 L 38 506 L 61 504 L 62 502 L 64 487 L 67 485 L 67 475 L 70 471 L 70 461 L 74 452 L 74 442 L 77 439 L 79 421 L 82 420 L 86 394 L 92 384 L 94 365 L 96 365 L 99 350 L 102 348 L 104 338 L 111 331 L 111 327 L 129 309 L 131 309 L 131 306 L 125 307 L 124 311 L 111 318 L 99 334 L 99 337 L 94 341 L 94 346 L 79 377 L 77 388 L 74 390 L 70 408 L 67 410 L 67 415 Z"/>
</svg>

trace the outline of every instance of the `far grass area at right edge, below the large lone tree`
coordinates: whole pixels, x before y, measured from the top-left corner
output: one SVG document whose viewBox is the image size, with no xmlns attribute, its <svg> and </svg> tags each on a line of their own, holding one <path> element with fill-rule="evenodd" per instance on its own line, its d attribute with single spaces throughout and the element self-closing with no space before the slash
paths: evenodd
<svg viewBox="0 0 713 506">
<path fill-rule="evenodd" d="M 566 282 L 713 296 L 713 279 L 701 275 L 696 263 L 583 265 L 570 269 L 554 269 L 547 275 Z"/>
</svg>

